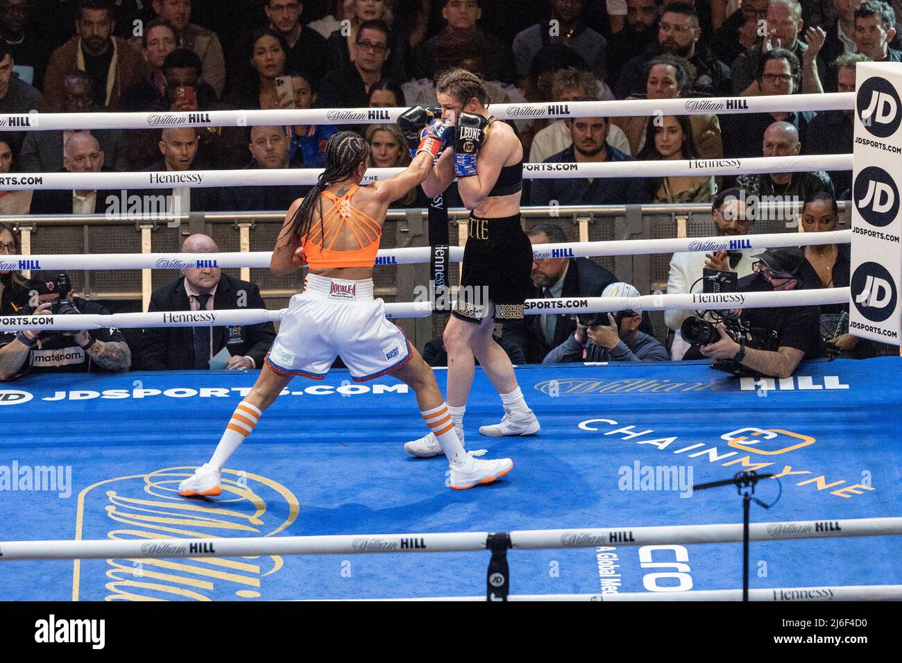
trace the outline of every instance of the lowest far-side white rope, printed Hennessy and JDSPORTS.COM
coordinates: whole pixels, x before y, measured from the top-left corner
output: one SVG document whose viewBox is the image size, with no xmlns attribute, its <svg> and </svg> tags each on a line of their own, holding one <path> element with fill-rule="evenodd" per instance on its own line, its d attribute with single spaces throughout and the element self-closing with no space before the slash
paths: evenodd
<svg viewBox="0 0 902 663">
<path fill-rule="evenodd" d="M 599 313 L 621 310 L 723 310 L 726 308 L 770 308 L 783 306 L 819 306 L 848 304 L 849 288 L 824 290 L 787 290 L 785 292 L 729 292 L 719 294 L 686 293 L 643 295 L 640 297 L 584 297 L 573 299 L 527 299 L 523 313 L 540 316 L 545 313 Z M 452 301 L 453 305 L 454 302 Z M 275 322 L 288 308 L 226 308 L 211 311 L 155 311 L 152 313 L 113 313 L 108 316 L 72 314 L 67 316 L 3 316 L 0 332 L 20 329 L 67 331 L 116 327 L 225 327 Z M 430 301 L 400 301 L 385 304 L 385 317 L 428 318 Z"/>
</svg>

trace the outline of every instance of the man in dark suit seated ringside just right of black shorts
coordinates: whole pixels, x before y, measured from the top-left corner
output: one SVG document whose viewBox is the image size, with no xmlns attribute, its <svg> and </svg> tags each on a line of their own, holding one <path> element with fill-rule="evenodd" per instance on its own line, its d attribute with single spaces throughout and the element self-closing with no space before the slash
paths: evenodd
<svg viewBox="0 0 902 663">
<path fill-rule="evenodd" d="M 540 221 L 529 228 L 532 244 L 559 244 L 566 235 L 553 221 Z M 557 297 L 601 297 L 617 277 L 588 258 L 542 258 L 532 261 L 535 291 L 529 299 Z M 570 315 L 527 316 L 505 320 L 502 338 L 520 345 L 529 364 L 540 364 L 552 348 L 564 343 L 576 330 Z"/>
</svg>

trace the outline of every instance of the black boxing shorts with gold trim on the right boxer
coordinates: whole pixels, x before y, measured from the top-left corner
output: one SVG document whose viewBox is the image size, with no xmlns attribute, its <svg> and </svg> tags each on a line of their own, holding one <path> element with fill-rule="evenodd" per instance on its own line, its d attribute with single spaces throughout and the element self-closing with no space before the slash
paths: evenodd
<svg viewBox="0 0 902 663">
<path fill-rule="evenodd" d="M 532 244 L 520 215 L 467 222 L 460 289 L 452 315 L 480 323 L 494 304 L 494 318 L 522 319 L 523 302 L 532 290 Z"/>
</svg>

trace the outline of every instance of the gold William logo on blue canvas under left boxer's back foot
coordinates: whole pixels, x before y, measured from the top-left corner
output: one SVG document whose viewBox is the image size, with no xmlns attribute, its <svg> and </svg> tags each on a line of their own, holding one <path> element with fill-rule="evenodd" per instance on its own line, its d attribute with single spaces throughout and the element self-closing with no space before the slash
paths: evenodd
<svg viewBox="0 0 902 663">
<path fill-rule="evenodd" d="M 100 481 L 78 494 L 75 539 L 143 539 L 176 559 L 79 559 L 73 601 L 235 601 L 287 598 L 285 560 L 216 555 L 220 537 L 272 537 L 297 520 L 298 498 L 265 476 L 225 469 L 223 496 L 189 502 L 176 492 L 194 467 Z"/>
</svg>

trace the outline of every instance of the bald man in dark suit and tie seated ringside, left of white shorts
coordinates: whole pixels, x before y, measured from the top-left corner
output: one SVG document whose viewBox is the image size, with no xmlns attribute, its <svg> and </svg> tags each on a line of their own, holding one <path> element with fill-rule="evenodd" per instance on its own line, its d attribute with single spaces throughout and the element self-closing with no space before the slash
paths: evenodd
<svg viewBox="0 0 902 663">
<path fill-rule="evenodd" d="M 190 235 L 182 253 L 218 253 L 212 237 Z M 253 283 L 233 279 L 217 267 L 182 270 L 182 278 L 153 292 L 148 312 L 266 308 Z M 145 371 L 207 370 L 226 348 L 226 369 L 260 368 L 276 337 L 272 322 L 236 327 L 144 329 L 141 367 Z"/>
</svg>

